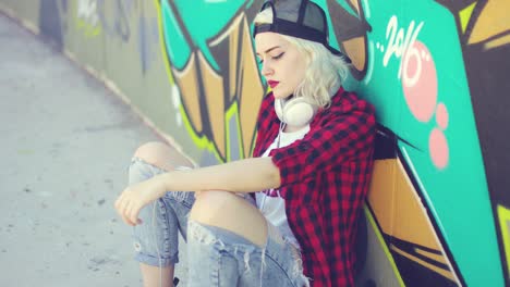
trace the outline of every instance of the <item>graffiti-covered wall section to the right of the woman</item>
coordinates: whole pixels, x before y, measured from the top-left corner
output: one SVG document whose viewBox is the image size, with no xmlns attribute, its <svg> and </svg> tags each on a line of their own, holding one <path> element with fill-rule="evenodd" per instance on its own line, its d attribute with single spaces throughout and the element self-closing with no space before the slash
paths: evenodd
<svg viewBox="0 0 510 287">
<path fill-rule="evenodd" d="M 360 284 L 390 270 L 392 286 L 508 284 L 510 3 L 326 7 L 354 59 L 351 88 L 376 104 L 380 124 L 366 216 L 381 251 L 368 253 Z M 378 258 L 386 271 L 368 266 Z"/>
</svg>

